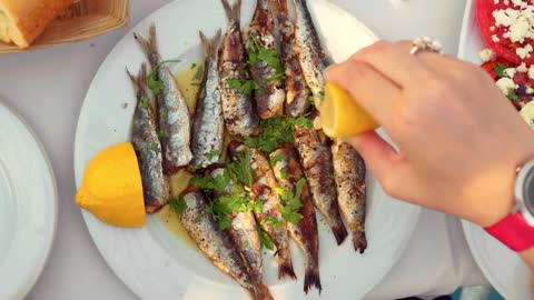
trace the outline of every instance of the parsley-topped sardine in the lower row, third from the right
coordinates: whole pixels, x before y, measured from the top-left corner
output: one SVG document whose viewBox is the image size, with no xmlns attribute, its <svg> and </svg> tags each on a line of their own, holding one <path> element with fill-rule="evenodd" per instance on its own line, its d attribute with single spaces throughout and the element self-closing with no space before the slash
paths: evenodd
<svg viewBox="0 0 534 300">
<path fill-rule="evenodd" d="M 293 146 L 283 146 L 270 154 L 270 159 L 271 161 L 276 160 L 273 170 L 278 186 L 295 194 L 297 182 L 305 179 L 296 149 Z M 307 182 L 303 186 L 300 204 L 301 208 L 297 212 L 303 216 L 303 219 L 297 224 L 287 222 L 287 230 L 291 239 L 303 250 L 304 291 L 308 293 L 309 289 L 315 287 L 320 293 L 323 288 L 319 277 L 319 237 L 315 208 Z"/>
</svg>

